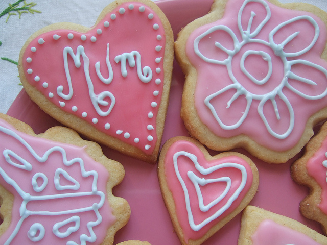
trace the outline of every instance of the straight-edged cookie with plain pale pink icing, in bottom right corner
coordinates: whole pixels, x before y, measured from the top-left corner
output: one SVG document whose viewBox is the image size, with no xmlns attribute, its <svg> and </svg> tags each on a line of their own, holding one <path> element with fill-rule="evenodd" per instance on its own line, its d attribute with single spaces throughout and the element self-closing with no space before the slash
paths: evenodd
<svg viewBox="0 0 327 245">
<path fill-rule="evenodd" d="M 238 245 L 326 245 L 327 237 L 297 220 L 247 206 L 243 212 Z"/>
</svg>

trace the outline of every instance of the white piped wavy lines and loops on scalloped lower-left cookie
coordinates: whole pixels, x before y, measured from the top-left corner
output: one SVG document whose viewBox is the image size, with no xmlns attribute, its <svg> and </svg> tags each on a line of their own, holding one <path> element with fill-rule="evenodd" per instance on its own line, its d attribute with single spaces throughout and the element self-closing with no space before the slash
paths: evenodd
<svg viewBox="0 0 327 245">
<path fill-rule="evenodd" d="M 91 180 L 91 186 L 89 191 L 79 191 L 80 184 L 76 179 L 74 179 L 71 175 L 67 173 L 66 170 L 62 169 L 61 167 L 58 167 L 55 170 L 55 175 L 53 179 L 49 179 L 45 174 L 41 172 L 37 172 L 34 174 L 34 176 L 31 179 L 31 185 L 33 186 L 33 190 L 37 193 L 40 193 L 39 195 L 35 195 L 33 193 L 27 193 L 24 191 L 24 187 L 19 186 L 19 182 L 17 183 L 15 181 L 14 177 L 10 177 L 10 173 L 6 171 L 5 169 L 8 168 L 8 166 L 2 165 L 0 166 L 0 175 L 4 179 L 5 182 L 7 182 L 9 185 L 11 185 L 17 192 L 17 194 L 21 197 L 21 205 L 19 207 L 19 213 L 20 213 L 20 219 L 18 220 L 18 223 L 15 227 L 12 229 L 12 233 L 9 235 L 8 239 L 5 241 L 4 245 L 9 245 L 12 243 L 13 239 L 16 237 L 17 234 L 20 234 L 20 228 L 24 225 L 24 220 L 28 217 L 34 217 L 34 216 L 57 216 L 60 217 L 61 215 L 65 214 L 75 214 L 71 218 L 64 219 L 60 222 L 57 222 L 54 224 L 52 231 L 48 230 L 45 231 L 45 228 L 40 223 L 34 223 L 30 226 L 29 231 L 27 232 L 28 238 L 33 241 L 41 241 L 44 236 L 45 232 L 53 232 L 53 234 L 59 238 L 68 237 L 71 235 L 71 233 L 79 231 L 80 229 L 80 214 L 82 212 L 94 212 L 96 215 L 96 220 L 92 219 L 90 222 L 87 223 L 87 234 L 81 234 L 79 236 L 81 244 L 86 244 L 86 241 L 88 242 L 95 242 L 97 239 L 97 235 L 94 232 L 94 228 L 101 224 L 102 222 L 102 216 L 99 212 L 99 209 L 104 205 L 105 202 L 105 193 L 98 190 L 98 173 L 95 170 L 86 171 L 84 167 L 84 160 L 82 158 L 73 158 L 71 160 L 67 159 L 67 152 L 64 148 L 61 146 L 53 146 L 49 150 L 47 150 L 43 155 L 39 155 L 33 147 L 21 136 L 19 136 L 16 132 L 12 131 L 9 128 L 5 128 L 3 126 L 0 126 L 0 132 L 2 134 L 8 135 L 15 140 L 17 140 L 22 146 L 24 146 L 24 149 L 26 149 L 30 155 L 34 158 L 36 162 L 44 163 L 46 164 L 46 161 L 51 157 L 53 154 L 60 154 L 62 162 L 58 162 L 58 164 L 63 164 L 63 167 L 72 166 L 73 164 L 78 164 L 81 176 L 83 178 L 92 178 Z M 10 149 L 3 150 L 3 157 L 5 161 L 3 164 L 10 164 L 12 167 L 16 167 L 17 171 L 31 171 L 33 169 L 33 165 L 26 159 L 20 157 L 17 155 L 16 152 Z M 12 159 L 15 159 L 14 161 Z M 16 162 L 19 163 L 16 163 Z M 60 176 L 67 179 L 69 182 L 72 182 L 72 185 L 62 185 L 60 183 Z M 40 180 L 42 180 L 40 184 Z M 58 191 L 62 190 L 71 190 L 71 191 L 65 191 L 62 193 L 55 193 L 55 194 L 42 194 L 42 191 L 48 186 L 49 182 L 53 181 L 53 184 L 55 188 Z M 42 203 L 44 201 L 49 200 L 60 200 L 60 199 L 67 199 L 67 198 L 87 198 L 89 200 L 94 200 L 94 203 L 90 206 L 85 207 L 78 207 L 74 208 L 74 206 L 71 207 L 71 209 L 66 210 L 29 210 L 29 203 Z M 46 207 L 46 206 L 44 206 Z M 44 208 L 43 207 L 43 208 Z M 74 223 L 74 226 L 69 226 L 66 231 L 60 229 L 63 226 L 67 225 L 68 223 Z M 61 231 L 59 231 L 59 229 Z M 20 234 L 22 235 L 22 234 Z M 68 241 L 67 244 L 76 244 L 74 241 Z"/>
</svg>

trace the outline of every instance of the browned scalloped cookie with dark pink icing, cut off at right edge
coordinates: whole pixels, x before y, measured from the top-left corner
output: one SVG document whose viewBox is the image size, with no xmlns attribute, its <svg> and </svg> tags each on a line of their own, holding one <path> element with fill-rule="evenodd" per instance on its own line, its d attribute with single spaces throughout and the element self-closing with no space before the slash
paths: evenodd
<svg viewBox="0 0 327 245">
<path fill-rule="evenodd" d="M 300 203 L 303 216 L 316 220 L 327 234 L 327 123 L 306 145 L 305 154 L 291 168 L 293 179 L 310 188 Z"/>
</svg>

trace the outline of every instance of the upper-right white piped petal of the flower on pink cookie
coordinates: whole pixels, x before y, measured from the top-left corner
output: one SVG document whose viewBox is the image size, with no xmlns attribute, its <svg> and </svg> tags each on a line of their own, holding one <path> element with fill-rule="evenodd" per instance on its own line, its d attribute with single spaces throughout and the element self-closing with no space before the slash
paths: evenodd
<svg viewBox="0 0 327 245">
<path fill-rule="evenodd" d="M 285 52 L 285 46 L 295 40 L 298 40 L 298 42 L 303 42 L 303 39 L 301 37 L 299 37 L 299 34 L 302 32 L 303 35 L 306 35 L 308 36 L 308 34 L 305 32 L 305 30 L 307 29 L 304 29 L 303 28 L 303 31 L 302 30 L 294 30 L 294 23 L 297 22 L 297 21 L 307 21 L 310 25 L 312 25 L 312 27 L 314 28 L 315 32 L 314 32 L 314 35 L 312 37 L 312 40 L 311 42 L 308 44 L 307 47 L 305 48 L 302 48 L 302 50 L 298 50 L 296 52 L 292 52 L 292 53 L 288 53 L 288 52 Z M 302 25 L 301 25 L 302 26 Z M 285 33 L 289 33 L 289 36 L 287 36 L 284 41 L 282 41 L 281 43 L 275 43 L 275 40 L 274 40 L 274 36 L 275 34 L 279 31 L 283 29 L 283 35 L 285 35 Z M 311 17 L 311 16 L 307 16 L 307 15 L 302 15 L 302 16 L 297 16 L 297 17 L 294 17 L 288 21 L 285 21 L 281 24 L 278 24 L 278 26 L 276 26 L 270 33 L 269 33 L 269 42 L 270 42 L 270 45 L 272 46 L 273 49 L 277 49 L 278 50 L 278 53 L 276 55 L 278 56 L 282 56 L 282 57 L 297 57 L 299 55 L 302 55 L 302 54 L 305 54 L 307 53 L 309 50 L 311 50 L 311 48 L 313 47 L 313 45 L 316 43 L 317 39 L 319 37 L 319 26 L 318 26 L 318 23 Z M 296 48 L 297 46 L 299 45 L 295 45 L 294 43 L 292 43 L 292 47 Z"/>
</svg>

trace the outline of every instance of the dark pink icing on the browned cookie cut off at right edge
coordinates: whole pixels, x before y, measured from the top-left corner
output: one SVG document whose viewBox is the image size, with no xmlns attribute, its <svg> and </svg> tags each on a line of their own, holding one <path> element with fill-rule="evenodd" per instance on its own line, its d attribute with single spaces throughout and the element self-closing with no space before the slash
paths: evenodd
<svg viewBox="0 0 327 245">
<path fill-rule="evenodd" d="M 307 162 L 307 171 L 310 176 L 312 176 L 315 181 L 321 187 L 321 202 L 318 204 L 318 207 L 322 212 L 327 214 L 327 182 L 326 182 L 326 173 L 327 168 L 322 165 L 322 162 L 327 160 L 327 139 L 324 139 L 321 143 L 318 151 L 315 152 L 313 157 L 311 157 Z"/>
</svg>

